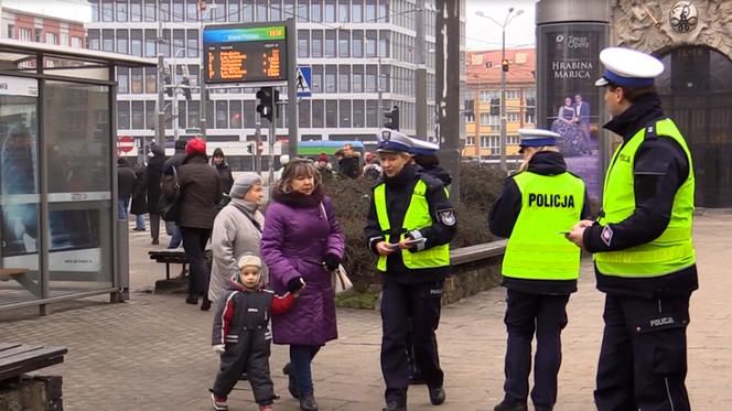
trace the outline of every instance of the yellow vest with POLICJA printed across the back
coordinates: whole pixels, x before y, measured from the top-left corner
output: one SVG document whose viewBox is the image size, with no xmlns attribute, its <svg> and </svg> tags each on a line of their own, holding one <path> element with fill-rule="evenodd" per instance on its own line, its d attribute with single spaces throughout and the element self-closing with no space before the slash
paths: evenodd
<svg viewBox="0 0 732 411">
<path fill-rule="evenodd" d="M 502 273 L 527 280 L 575 280 L 580 249 L 561 234 L 582 215 L 584 182 L 571 173 L 514 175 L 521 210 L 506 245 Z"/>
</svg>

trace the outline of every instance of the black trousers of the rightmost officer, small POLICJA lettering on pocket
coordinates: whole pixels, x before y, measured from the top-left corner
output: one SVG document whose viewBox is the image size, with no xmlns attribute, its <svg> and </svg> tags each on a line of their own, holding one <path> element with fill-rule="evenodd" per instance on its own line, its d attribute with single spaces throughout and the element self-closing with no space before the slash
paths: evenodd
<svg viewBox="0 0 732 411">
<path fill-rule="evenodd" d="M 607 294 L 598 365 L 600 411 L 688 411 L 686 327 L 690 293 Z"/>
</svg>

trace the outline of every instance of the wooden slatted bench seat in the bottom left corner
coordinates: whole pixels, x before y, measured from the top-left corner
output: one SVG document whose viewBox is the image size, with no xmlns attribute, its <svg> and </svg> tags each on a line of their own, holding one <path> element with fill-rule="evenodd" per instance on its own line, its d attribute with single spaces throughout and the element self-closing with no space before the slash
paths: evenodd
<svg viewBox="0 0 732 411">
<path fill-rule="evenodd" d="M 0 382 L 64 361 L 64 347 L 0 343 Z"/>
</svg>

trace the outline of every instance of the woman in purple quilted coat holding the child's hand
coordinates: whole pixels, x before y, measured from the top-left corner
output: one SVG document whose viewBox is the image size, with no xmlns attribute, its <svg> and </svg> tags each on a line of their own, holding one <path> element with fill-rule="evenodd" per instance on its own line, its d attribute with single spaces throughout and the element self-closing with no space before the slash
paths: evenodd
<svg viewBox="0 0 732 411">
<path fill-rule="evenodd" d="M 270 286 L 280 295 L 302 289 L 294 307 L 272 318 L 272 336 L 274 344 L 290 345 L 283 369 L 290 393 L 300 399 L 301 410 L 314 411 L 311 363 L 326 342 L 337 338 L 331 271 L 341 263 L 345 237 L 312 161 L 290 161 L 272 199 L 261 239 Z"/>
</svg>

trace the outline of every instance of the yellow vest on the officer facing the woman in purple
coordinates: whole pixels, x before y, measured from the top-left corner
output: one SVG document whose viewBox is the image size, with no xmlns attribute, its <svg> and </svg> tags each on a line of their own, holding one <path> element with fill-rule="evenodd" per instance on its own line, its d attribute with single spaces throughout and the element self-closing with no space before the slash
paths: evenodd
<svg viewBox="0 0 732 411">
<path fill-rule="evenodd" d="M 405 239 L 406 235 L 416 229 L 430 227 L 434 220 L 430 214 L 430 206 L 427 202 L 427 184 L 421 179 L 417 181 L 415 191 L 412 192 L 409 207 L 405 214 L 405 221 L 402 223 L 402 232 L 399 240 Z M 376 206 L 376 217 L 379 223 L 379 228 L 386 236 L 386 242 L 391 242 L 391 235 L 388 234 L 391 226 L 389 225 L 389 215 L 386 209 L 386 186 L 384 183 L 374 187 L 374 204 Z M 379 256 L 376 269 L 386 271 L 386 257 Z M 401 250 L 401 259 L 405 267 L 408 269 L 423 269 L 450 266 L 450 246 L 434 246 L 430 249 L 410 252 Z"/>
</svg>

